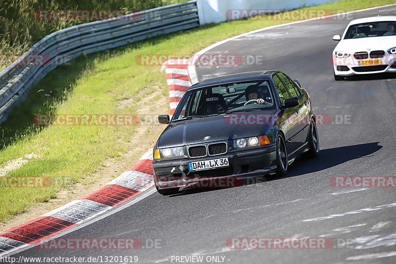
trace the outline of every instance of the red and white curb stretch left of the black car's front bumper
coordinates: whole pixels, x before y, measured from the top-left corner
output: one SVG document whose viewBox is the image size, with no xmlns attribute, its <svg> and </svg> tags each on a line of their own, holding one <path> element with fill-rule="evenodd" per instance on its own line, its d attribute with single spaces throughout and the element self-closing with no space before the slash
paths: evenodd
<svg viewBox="0 0 396 264">
<path fill-rule="evenodd" d="M 152 150 L 99 190 L 29 222 L 1 231 L 0 256 L 48 240 L 150 189 L 154 186 L 151 163 Z"/>
</svg>

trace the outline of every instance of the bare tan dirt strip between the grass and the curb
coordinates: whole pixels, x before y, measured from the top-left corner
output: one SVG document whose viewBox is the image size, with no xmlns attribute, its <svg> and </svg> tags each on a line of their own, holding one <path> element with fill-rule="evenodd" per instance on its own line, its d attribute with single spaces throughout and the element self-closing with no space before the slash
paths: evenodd
<svg viewBox="0 0 396 264">
<path fill-rule="evenodd" d="M 155 116 L 168 112 L 169 99 L 163 95 L 159 88 L 154 91 L 142 90 L 139 93 L 139 98 L 139 101 L 136 101 L 135 97 L 128 100 L 128 105 L 136 105 L 139 115 Z M 122 105 L 124 103 L 125 101 Z M 13 216 L 10 220 L 0 223 L 0 229 L 5 230 L 27 222 L 99 189 L 126 171 L 134 162 L 141 158 L 148 149 L 152 148 L 164 128 L 164 125 L 158 124 L 155 120 L 152 122 L 142 122 L 142 124 L 136 127 L 136 132 L 130 140 L 128 140 L 128 150 L 126 153 L 120 154 L 120 157 L 117 158 L 105 158 L 100 169 L 90 175 L 86 175 L 79 183 L 74 184 L 72 187 L 58 191 L 56 193 L 57 198 L 50 199 L 46 203 L 39 203 L 29 210 Z"/>
</svg>

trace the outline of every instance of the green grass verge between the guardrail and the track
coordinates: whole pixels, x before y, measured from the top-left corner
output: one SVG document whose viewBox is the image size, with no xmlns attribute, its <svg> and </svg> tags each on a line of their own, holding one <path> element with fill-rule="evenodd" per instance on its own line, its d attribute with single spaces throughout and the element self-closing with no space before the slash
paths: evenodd
<svg viewBox="0 0 396 264">
<path fill-rule="evenodd" d="M 392 0 L 348 0 L 311 8 L 353 10 L 393 3 Z M 160 66 L 140 66 L 140 54 L 193 54 L 217 41 L 262 27 L 287 23 L 279 20 L 242 20 L 205 25 L 172 35 L 135 43 L 98 54 L 81 56 L 50 72 L 27 100 L 14 108 L 1 125 L 0 166 L 6 161 L 34 153 L 20 168 L 6 176 L 46 176 L 65 178 L 48 188 L 1 188 L 0 221 L 9 219 L 38 202 L 56 197 L 59 189 L 73 188 L 83 177 L 99 169 L 105 158 L 119 158 L 127 149 L 135 127 L 33 125 L 35 114 L 133 114 L 136 104 L 120 110 L 117 102 L 134 102 L 167 84 Z M 331 37 L 331 36 L 329 36 Z M 140 96 L 136 96 L 137 93 Z M 158 99 L 158 97 L 156 97 Z M 164 109 L 164 113 L 168 109 Z M 142 139 L 142 144 L 149 142 Z"/>
</svg>

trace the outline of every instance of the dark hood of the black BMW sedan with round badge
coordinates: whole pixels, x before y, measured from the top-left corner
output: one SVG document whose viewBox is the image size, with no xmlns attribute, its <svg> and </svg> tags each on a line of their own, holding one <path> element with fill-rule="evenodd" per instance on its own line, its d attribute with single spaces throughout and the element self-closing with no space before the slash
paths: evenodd
<svg viewBox="0 0 396 264">
<path fill-rule="evenodd" d="M 270 109 L 178 121 L 162 132 L 158 148 L 259 136 L 275 112 Z M 207 136 L 210 139 L 203 140 Z"/>
</svg>

